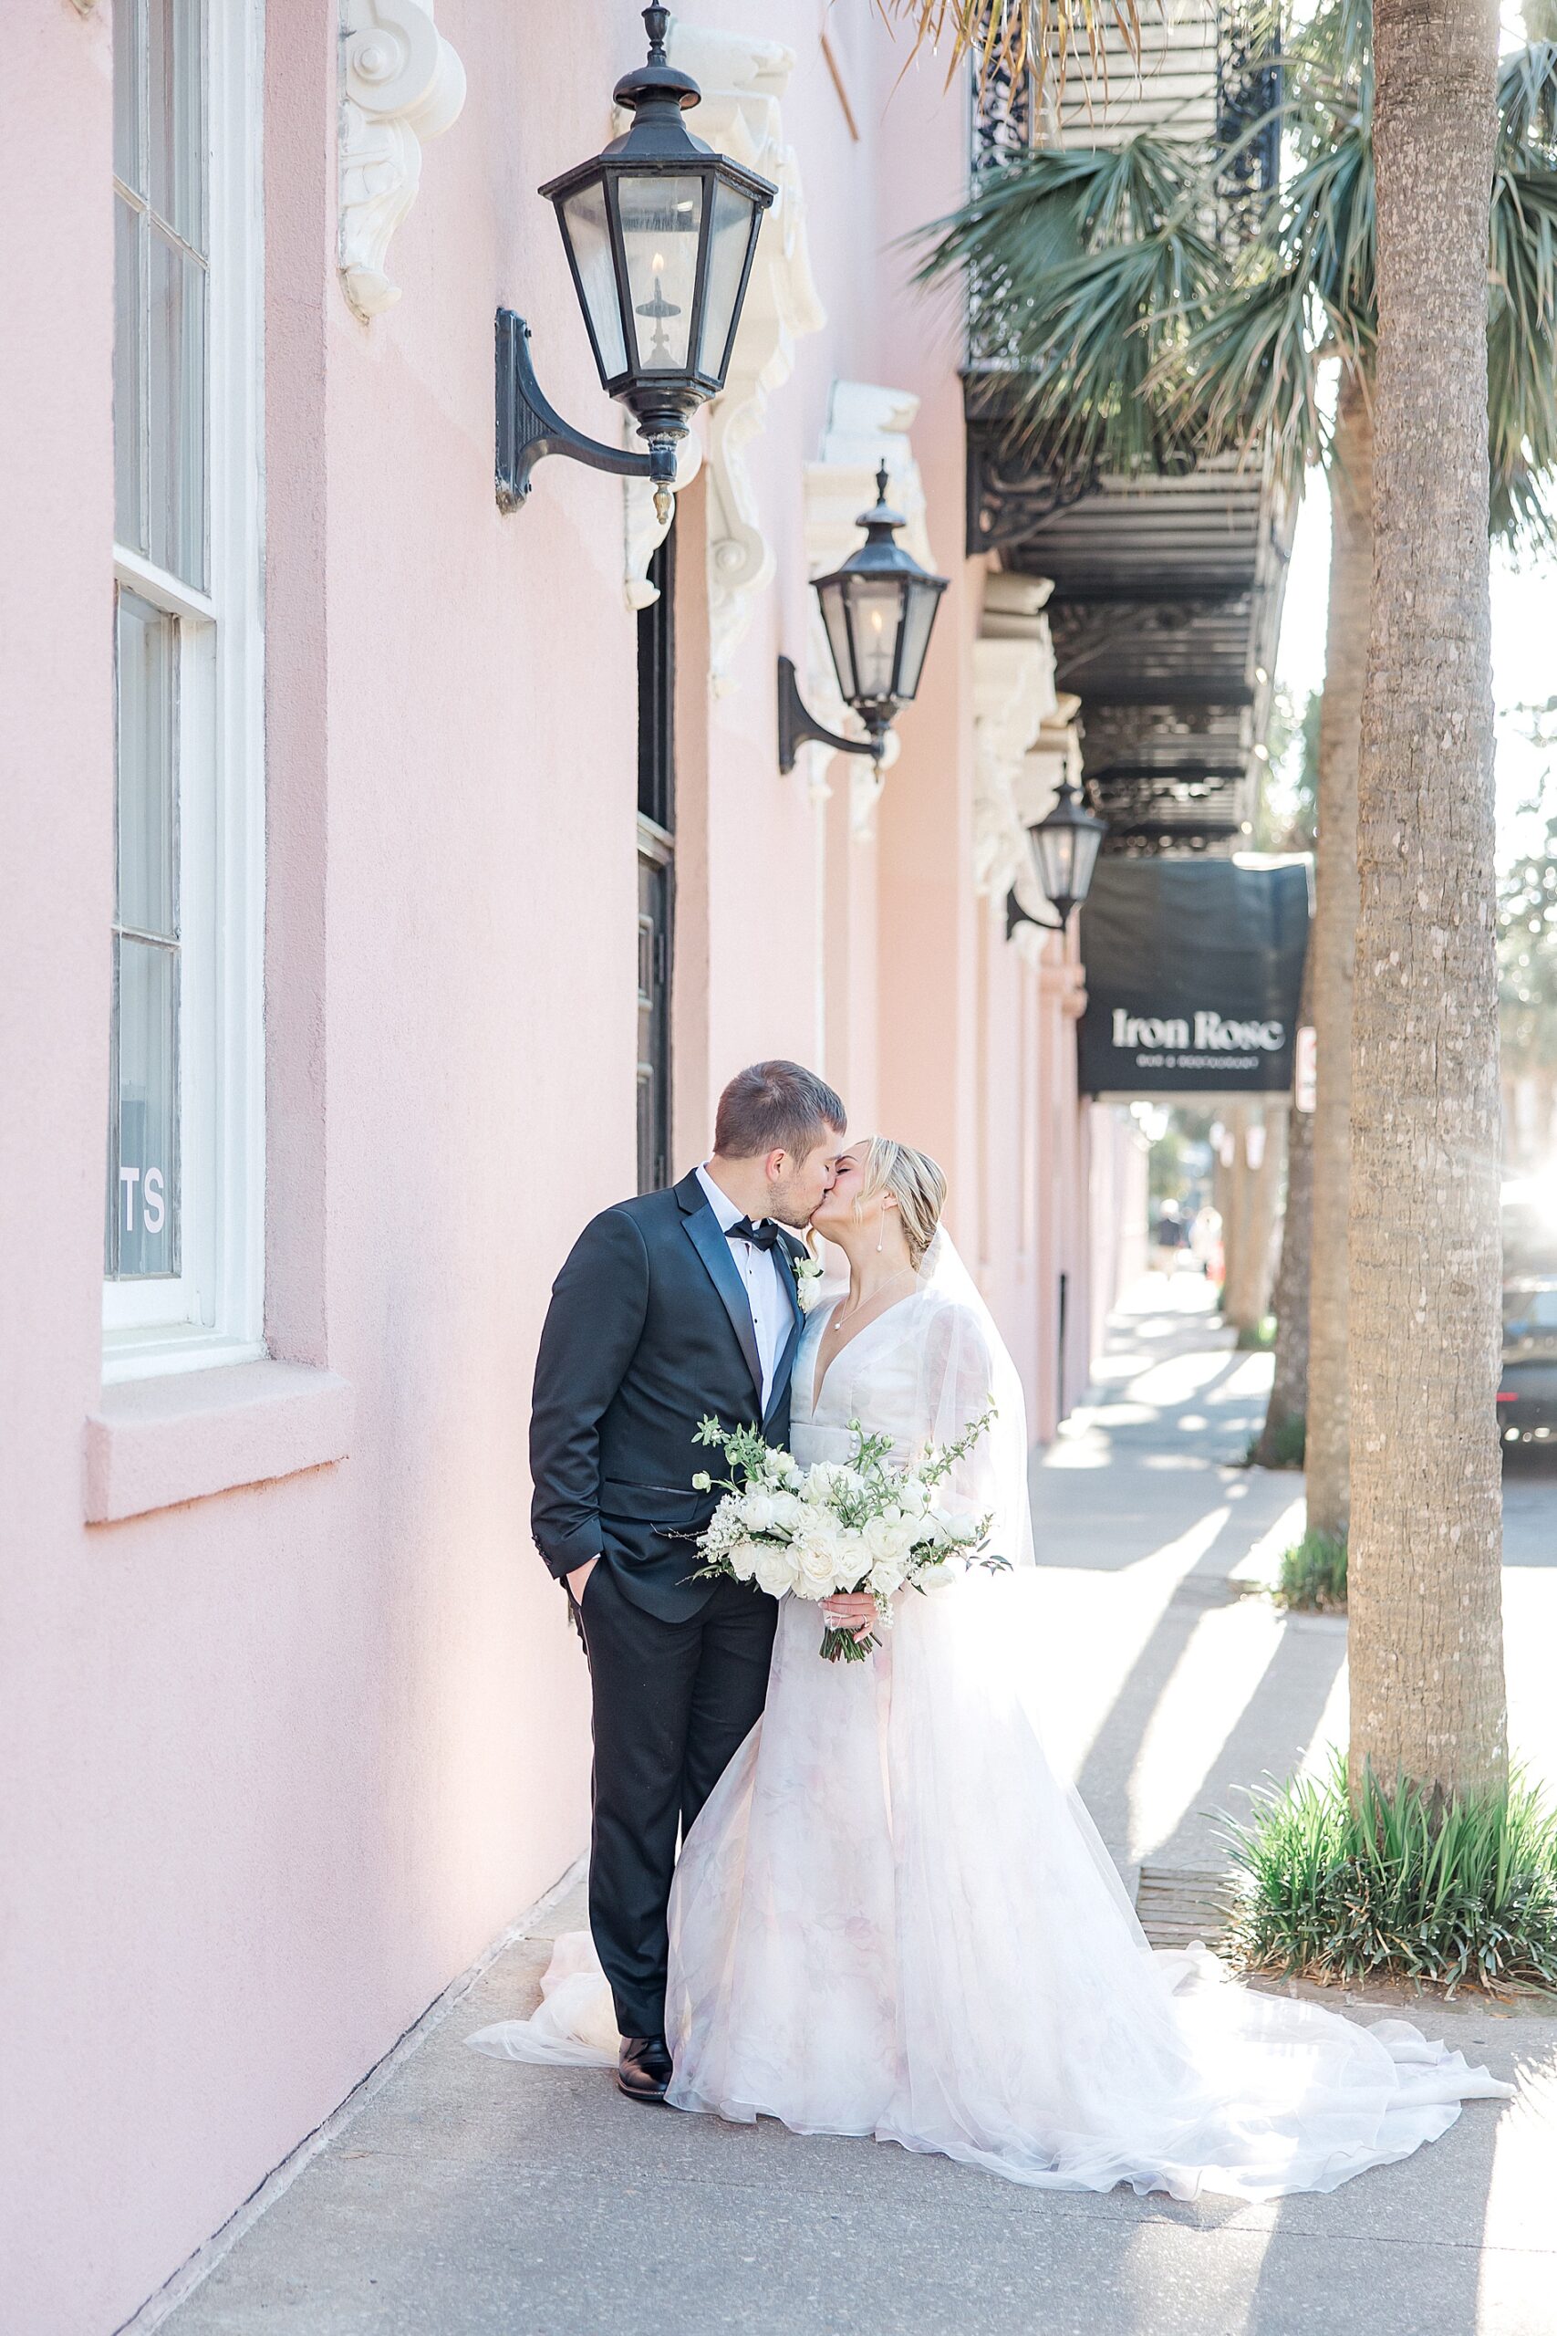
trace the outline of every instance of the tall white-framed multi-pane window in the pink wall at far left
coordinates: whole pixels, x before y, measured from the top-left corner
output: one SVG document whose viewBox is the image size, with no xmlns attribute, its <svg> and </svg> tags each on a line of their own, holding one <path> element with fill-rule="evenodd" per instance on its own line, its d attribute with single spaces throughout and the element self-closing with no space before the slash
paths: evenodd
<svg viewBox="0 0 1557 2336">
<path fill-rule="evenodd" d="M 114 1371 L 259 1350 L 259 9 L 114 0 Z"/>
</svg>

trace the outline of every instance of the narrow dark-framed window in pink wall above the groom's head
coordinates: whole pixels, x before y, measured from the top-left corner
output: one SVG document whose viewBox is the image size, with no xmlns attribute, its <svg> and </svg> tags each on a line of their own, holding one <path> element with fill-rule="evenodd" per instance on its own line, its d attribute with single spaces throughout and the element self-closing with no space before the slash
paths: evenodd
<svg viewBox="0 0 1557 2336">
<path fill-rule="evenodd" d="M 675 909 L 675 528 L 637 612 L 637 1189 L 670 1182 L 670 930 Z"/>
</svg>

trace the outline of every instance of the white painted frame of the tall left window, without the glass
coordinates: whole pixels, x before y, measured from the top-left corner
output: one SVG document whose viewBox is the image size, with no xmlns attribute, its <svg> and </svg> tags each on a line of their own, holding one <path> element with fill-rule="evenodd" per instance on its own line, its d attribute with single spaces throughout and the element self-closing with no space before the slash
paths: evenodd
<svg viewBox="0 0 1557 2336">
<path fill-rule="evenodd" d="M 210 593 L 121 544 L 180 619 L 180 1205 L 175 1280 L 103 1282 L 103 1378 L 264 1348 L 264 0 L 212 0 Z"/>
</svg>

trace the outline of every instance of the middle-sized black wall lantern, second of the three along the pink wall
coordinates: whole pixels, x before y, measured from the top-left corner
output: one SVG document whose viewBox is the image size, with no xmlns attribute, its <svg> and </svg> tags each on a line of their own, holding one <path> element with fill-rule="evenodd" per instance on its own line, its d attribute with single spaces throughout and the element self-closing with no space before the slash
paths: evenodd
<svg viewBox="0 0 1557 2336">
<path fill-rule="evenodd" d="M 899 705 L 908 705 L 920 687 L 929 633 L 941 607 L 945 577 L 931 577 L 913 551 L 903 551 L 896 530 L 903 514 L 887 509 L 887 465 L 875 472 L 875 509 L 859 514 L 866 540 L 850 551 L 843 568 L 815 577 L 826 626 L 826 645 L 838 668 L 838 689 L 866 726 L 864 738 L 838 738 L 805 712 L 794 663 L 780 656 L 780 771 L 794 771 L 808 738 L 838 748 L 843 755 L 887 750 L 887 731 Z"/>
</svg>

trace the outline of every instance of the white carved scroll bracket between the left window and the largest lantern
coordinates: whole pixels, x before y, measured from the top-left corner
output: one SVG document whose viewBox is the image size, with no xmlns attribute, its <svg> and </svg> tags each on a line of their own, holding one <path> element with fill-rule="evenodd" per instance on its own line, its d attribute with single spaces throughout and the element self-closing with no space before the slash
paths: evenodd
<svg viewBox="0 0 1557 2336">
<path fill-rule="evenodd" d="M 366 322 L 399 299 L 390 236 L 416 203 L 423 145 L 465 105 L 465 65 L 432 0 L 341 0 L 341 285 Z"/>
</svg>

